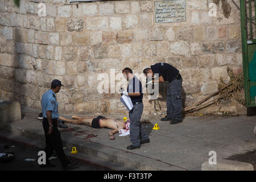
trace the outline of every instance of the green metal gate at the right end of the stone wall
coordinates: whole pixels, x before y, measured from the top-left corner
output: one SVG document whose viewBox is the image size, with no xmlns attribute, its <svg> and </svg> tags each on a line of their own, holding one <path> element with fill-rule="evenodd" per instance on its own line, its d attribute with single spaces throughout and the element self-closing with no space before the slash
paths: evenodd
<svg viewBox="0 0 256 182">
<path fill-rule="evenodd" d="M 246 107 L 256 107 L 256 0 L 240 0 Z"/>
</svg>

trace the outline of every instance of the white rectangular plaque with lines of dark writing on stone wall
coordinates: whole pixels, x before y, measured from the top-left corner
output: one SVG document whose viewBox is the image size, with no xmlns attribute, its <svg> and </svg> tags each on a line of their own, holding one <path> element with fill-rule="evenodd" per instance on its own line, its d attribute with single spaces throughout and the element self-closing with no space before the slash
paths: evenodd
<svg viewBox="0 0 256 182">
<path fill-rule="evenodd" d="M 155 23 L 186 21 L 185 0 L 155 1 Z"/>
</svg>

